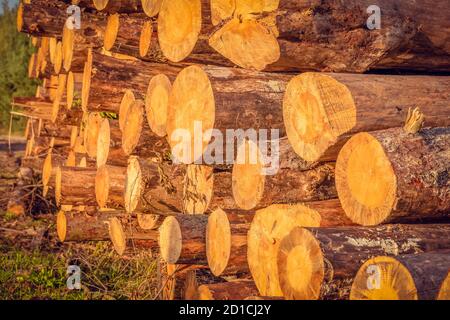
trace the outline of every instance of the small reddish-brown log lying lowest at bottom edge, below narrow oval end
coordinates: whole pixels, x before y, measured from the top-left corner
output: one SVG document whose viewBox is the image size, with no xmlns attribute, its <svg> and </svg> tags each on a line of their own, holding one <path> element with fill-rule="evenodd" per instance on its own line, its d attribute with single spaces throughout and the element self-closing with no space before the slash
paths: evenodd
<svg viewBox="0 0 450 320">
<path fill-rule="evenodd" d="M 198 288 L 200 300 L 244 300 L 258 294 L 258 288 L 251 280 L 204 284 Z"/>
</svg>

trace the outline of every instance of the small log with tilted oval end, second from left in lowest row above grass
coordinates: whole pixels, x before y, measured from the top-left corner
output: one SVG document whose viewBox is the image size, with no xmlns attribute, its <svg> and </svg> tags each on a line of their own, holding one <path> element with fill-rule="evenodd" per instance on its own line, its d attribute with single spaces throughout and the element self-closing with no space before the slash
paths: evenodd
<svg viewBox="0 0 450 320">
<path fill-rule="evenodd" d="M 135 218 L 128 215 L 109 221 L 109 236 L 114 249 L 123 256 L 136 248 L 152 249 L 158 245 L 158 232 L 141 229 Z"/>
</svg>

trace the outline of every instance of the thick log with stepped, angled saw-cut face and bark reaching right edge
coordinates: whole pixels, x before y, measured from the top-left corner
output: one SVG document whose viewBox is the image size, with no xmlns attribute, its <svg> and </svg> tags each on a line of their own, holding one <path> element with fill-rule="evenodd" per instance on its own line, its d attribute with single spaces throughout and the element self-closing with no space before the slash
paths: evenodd
<svg viewBox="0 0 450 320">
<path fill-rule="evenodd" d="M 426 126 L 450 125 L 449 87 L 438 76 L 304 73 L 286 88 L 286 132 L 304 160 L 334 161 L 353 134 L 403 126 L 409 108 L 420 107 Z"/>
</svg>

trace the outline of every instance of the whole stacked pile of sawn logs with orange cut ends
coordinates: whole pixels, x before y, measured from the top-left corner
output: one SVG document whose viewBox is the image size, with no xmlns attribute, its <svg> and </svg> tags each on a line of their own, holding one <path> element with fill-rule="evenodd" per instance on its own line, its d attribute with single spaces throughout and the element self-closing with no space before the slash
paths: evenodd
<svg viewBox="0 0 450 320">
<path fill-rule="evenodd" d="M 370 1 L 69 2 L 20 4 L 42 85 L 12 102 L 61 241 L 152 250 L 164 299 L 450 299 L 448 1 L 379 30 Z"/>
</svg>

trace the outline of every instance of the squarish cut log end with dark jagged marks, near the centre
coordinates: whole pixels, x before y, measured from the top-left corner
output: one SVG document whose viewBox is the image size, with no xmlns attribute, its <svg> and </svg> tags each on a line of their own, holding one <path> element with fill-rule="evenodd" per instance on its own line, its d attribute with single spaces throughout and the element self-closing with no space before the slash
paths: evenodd
<svg viewBox="0 0 450 320">
<path fill-rule="evenodd" d="M 213 168 L 202 165 L 188 165 L 183 190 L 183 208 L 189 214 L 205 213 L 213 195 Z"/>
</svg>

